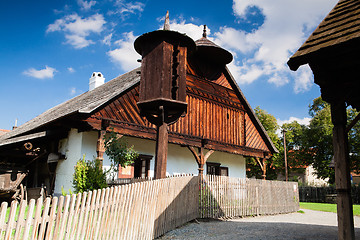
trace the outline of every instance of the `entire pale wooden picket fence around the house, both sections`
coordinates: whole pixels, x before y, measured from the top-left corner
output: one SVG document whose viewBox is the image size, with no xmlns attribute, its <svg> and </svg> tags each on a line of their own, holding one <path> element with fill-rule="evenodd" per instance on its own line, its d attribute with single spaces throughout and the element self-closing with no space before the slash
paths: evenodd
<svg viewBox="0 0 360 240">
<path fill-rule="evenodd" d="M 200 185 L 199 185 L 200 183 Z M 200 190 L 200 191 L 199 191 Z M 200 198 L 199 198 L 200 196 Z M 0 239 L 153 239 L 192 219 L 297 211 L 297 183 L 171 177 L 0 208 Z"/>
</svg>

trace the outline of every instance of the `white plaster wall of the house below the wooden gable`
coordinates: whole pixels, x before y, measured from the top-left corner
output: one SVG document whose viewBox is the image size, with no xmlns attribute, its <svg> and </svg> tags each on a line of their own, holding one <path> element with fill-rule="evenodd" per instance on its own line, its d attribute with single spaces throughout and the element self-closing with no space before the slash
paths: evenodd
<svg viewBox="0 0 360 240">
<path fill-rule="evenodd" d="M 61 186 L 68 192 L 69 189 L 73 191 L 72 179 L 74 174 L 74 166 L 76 162 L 83 157 L 87 160 L 92 160 L 96 157 L 97 145 L 97 131 L 78 133 L 76 129 L 71 129 L 67 139 L 60 142 L 60 152 L 65 154 L 66 160 L 59 162 L 56 169 L 55 180 L 55 194 L 61 193 Z M 129 146 L 134 146 L 135 150 L 140 154 L 152 155 L 150 160 L 150 176 L 154 176 L 155 166 L 155 141 L 148 139 L 141 139 L 135 137 L 124 137 L 124 140 Z M 205 151 L 206 153 L 206 151 Z M 230 177 L 245 178 L 245 158 L 240 155 L 214 152 L 208 159 L 209 162 L 220 163 L 223 167 L 229 168 Z M 110 167 L 110 160 L 104 154 L 104 169 Z M 206 174 L 206 166 L 204 166 Z M 198 174 L 198 165 L 187 147 L 180 145 L 169 144 L 168 146 L 168 160 L 167 160 L 166 175 L 179 174 Z M 116 173 L 113 173 L 116 176 Z"/>
</svg>

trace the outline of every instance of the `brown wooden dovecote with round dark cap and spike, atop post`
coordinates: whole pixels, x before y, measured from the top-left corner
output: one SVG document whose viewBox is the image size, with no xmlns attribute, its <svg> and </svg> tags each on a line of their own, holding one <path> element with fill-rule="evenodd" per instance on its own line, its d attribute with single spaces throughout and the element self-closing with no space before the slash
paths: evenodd
<svg viewBox="0 0 360 240">
<path fill-rule="evenodd" d="M 138 102 L 141 115 L 155 125 L 177 121 L 187 108 L 186 58 L 195 49 L 195 42 L 170 31 L 167 13 L 164 30 L 145 33 L 134 45 L 142 56 Z"/>
</svg>

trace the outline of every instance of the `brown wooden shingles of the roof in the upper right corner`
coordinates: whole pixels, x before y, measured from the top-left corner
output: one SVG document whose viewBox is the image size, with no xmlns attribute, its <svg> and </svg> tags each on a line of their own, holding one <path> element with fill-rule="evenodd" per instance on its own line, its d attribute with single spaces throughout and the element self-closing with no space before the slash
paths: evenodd
<svg viewBox="0 0 360 240">
<path fill-rule="evenodd" d="M 318 53 L 331 51 L 344 44 L 358 43 L 360 40 L 360 1 L 340 0 L 331 12 L 320 23 L 299 50 L 289 59 L 291 70 Z M 356 44 L 358 45 L 358 44 Z"/>
</svg>

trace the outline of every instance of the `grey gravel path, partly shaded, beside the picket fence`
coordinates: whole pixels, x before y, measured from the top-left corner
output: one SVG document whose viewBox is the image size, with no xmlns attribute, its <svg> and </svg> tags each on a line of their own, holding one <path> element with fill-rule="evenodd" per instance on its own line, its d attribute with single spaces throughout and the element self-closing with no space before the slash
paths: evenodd
<svg viewBox="0 0 360 240">
<path fill-rule="evenodd" d="M 168 232 L 167 239 L 337 239 L 335 213 L 302 209 L 305 213 L 247 217 L 227 221 L 191 222 Z M 355 236 L 360 240 L 360 217 L 355 217 Z"/>
</svg>

